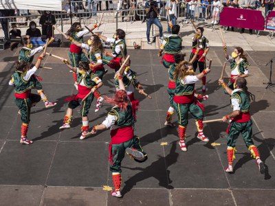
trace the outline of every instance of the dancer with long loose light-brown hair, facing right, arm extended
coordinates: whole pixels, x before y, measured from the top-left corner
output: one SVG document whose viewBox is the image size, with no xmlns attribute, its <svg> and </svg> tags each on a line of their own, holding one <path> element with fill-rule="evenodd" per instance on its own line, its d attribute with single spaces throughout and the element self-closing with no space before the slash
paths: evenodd
<svg viewBox="0 0 275 206">
<path fill-rule="evenodd" d="M 203 134 L 203 105 L 197 102 L 194 96 L 195 82 L 198 82 L 210 72 L 206 68 L 201 73 L 195 76 L 194 71 L 188 68 L 187 61 L 181 61 L 177 65 L 173 80 L 176 82 L 174 108 L 177 111 L 179 123 L 179 146 L 182 151 L 186 152 L 186 126 L 188 125 L 188 111 L 195 117 L 195 122 L 198 130 L 197 138 L 201 141 L 208 142 L 209 139 Z"/>
</svg>

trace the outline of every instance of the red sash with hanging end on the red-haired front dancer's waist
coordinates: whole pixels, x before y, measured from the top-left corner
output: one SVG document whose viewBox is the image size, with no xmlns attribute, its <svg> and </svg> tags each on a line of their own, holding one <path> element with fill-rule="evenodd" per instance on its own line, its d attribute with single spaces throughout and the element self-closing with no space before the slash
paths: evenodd
<svg viewBox="0 0 275 206">
<path fill-rule="evenodd" d="M 113 164 L 113 154 L 111 148 L 113 144 L 121 144 L 133 138 L 133 126 L 120 127 L 111 130 L 111 143 L 109 144 L 109 161 Z"/>
</svg>

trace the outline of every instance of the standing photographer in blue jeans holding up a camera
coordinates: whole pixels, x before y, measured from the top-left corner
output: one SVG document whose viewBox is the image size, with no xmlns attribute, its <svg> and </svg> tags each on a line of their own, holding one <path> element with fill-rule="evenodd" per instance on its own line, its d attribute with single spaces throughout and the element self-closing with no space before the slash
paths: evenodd
<svg viewBox="0 0 275 206">
<path fill-rule="evenodd" d="M 147 25 L 147 30 L 146 30 L 146 36 L 147 36 L 147 43 L 148 45 L 151 45 L 150 41 L 150 30 L 151 30 L 151 25 L 155 24 L 157 27 L 159 27 L 159 38 L 163 38 L 162 36 L 162 25 L 159 22 L 159 19 L 157 19 L 157 16 L 159 15 L 159 8 L 157 8 L 157 1 L 146 1 L 145 4 L 145 12 L 146 12 L 146 25 Z"/>
</svg>

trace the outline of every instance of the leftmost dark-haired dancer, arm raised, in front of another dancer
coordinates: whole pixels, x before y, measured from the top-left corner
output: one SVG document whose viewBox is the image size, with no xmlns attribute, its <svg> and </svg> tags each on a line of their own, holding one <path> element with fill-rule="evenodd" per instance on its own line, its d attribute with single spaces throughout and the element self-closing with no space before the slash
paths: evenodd
<svg viewBox="0 0 275 206">
<path fill-rule="evenodd" d="M 45 54 L 41 54 L 36 64 L 30 69 L 28 62 L 17 61 L 17 70 L 12 74 L 9 82 L 10 86 L 14 86 L 15 104 L 19 107 L 21 113 L 21 144 L 32 144 L 27 137 L 30 123 L 30 108 L 37 102 L 40 102 L 41 96 L 31 92 L 31 89 L 41 89 L 41 84 L 36 84 L 37 80 L 34 73 L 39 69 L 41 61 Z"/>
</svg>

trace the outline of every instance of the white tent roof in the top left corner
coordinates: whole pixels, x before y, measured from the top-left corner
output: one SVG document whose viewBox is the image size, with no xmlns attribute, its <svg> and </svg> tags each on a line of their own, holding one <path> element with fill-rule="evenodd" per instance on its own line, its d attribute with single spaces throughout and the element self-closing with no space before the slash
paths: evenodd
<svg viewBox="0 0 275 206">
<path fill-rule="evenodd" d="M 62 11 L 67 0 L 0 0 L 0 10 Z"/>
</svg>

